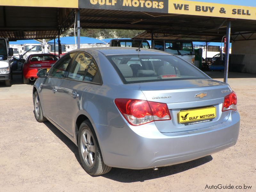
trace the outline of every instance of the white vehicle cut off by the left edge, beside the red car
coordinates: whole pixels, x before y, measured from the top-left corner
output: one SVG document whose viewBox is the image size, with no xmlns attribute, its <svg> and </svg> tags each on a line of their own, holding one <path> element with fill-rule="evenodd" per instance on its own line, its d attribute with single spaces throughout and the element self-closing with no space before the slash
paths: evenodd
<svg viewBox="0 0 256 192">
<path fill-rule="evenodd" d="M 9 41 L 0 38 L 0 81 L 5 81 L 6 86 L 11 86 L 11 58 L 13 49 L 9 47 Z"/>
</svg>

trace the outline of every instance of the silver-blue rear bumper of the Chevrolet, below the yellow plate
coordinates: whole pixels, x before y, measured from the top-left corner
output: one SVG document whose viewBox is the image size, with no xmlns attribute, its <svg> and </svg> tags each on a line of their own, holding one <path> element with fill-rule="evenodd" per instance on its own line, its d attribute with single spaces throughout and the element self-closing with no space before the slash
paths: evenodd
<svg viewBox="0 0 256 192">
<path fill-rule="evenodd" d="M 240 116 L 231 111 L 226 122 L 206 128 L 161 133 L 154 123 L 122 128 L 93 126 L 104 163 L 108 166 L 146 169 L 168 166 L 204 157 L 236 144 Z"/>
</svg>

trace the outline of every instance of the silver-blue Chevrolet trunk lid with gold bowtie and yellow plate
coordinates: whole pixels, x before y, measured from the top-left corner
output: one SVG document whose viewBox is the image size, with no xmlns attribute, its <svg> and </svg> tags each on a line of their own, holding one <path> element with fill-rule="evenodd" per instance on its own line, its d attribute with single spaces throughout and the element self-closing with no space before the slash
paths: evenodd
<svg viewBox="0 0 256 192">
<path fill-rule="evenodd" d="M 170 110 L 172 120 L 155 122 L 160 132 L 200 129 L 222 123 L 229 115 L 229 111 L 222 112 L 222 103 L 231 89 L 223 82 L 212 79 L 164 81 L 140 84 L 139 89 L 148 101 L 166 103 Z M 214 116 L 209 116 L 209 111 Z"/>
</svg>

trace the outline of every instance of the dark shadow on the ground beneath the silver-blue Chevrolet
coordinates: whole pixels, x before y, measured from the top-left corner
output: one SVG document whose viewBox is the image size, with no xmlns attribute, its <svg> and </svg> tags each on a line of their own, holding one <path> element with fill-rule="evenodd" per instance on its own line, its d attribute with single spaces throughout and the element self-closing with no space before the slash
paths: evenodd
<svg viewBox="0 0 256 192">
<path fill-rule="evenodd" d="M 59 129 L 57 129 L 52 123 L 44 122 L 44 124 L 65 144 L 67 147 L 74 153 L 77 161 L 82 167 L 82 163 L 79 157 L 77 146 L 66 137 Z M 122 183 L 131 183 L 131 182 L 143 182 L 145 180 L 151 180 L 156 178 L 161 178 L 165 176 L 174 175 L 189 169 L 195 168 L 202 164 L 208 163 L 212 160 L 212 156 L 205 156 L 200 159 L 189 161 L 182 164 L 176 164 L 167 167 L 160 167 L 157 171 L 153 169 L 143 169 L 143 170 L 132 170 L 132 169 L 121 169 L 121 168 L 112 168 L 110 172 L 101 177 L 105 177 L 111 180 L 115 180 Z M 86 174 L 86 173 L 85 173 Z"/>
</svg>

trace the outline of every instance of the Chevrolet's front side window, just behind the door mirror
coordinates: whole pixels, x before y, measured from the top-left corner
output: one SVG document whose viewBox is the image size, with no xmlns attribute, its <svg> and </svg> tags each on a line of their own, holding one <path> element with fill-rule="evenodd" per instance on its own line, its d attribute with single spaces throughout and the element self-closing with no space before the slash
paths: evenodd
<svg viewBox="0 0 256 192">
<path fill-rule="evenodd" d="M 60 61 L 53 66 L 52 74 L 50 76 L 63 78 L 65 76 L 65 71 L 68 68 L 68 64 L 75 54 L 76 53 L 71 53 L 61 58 Z"/>
</svg>

